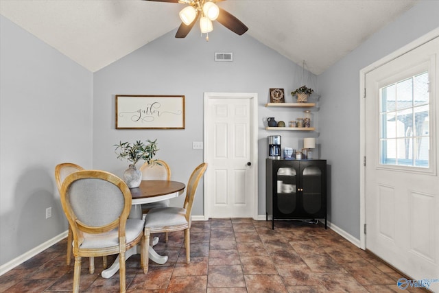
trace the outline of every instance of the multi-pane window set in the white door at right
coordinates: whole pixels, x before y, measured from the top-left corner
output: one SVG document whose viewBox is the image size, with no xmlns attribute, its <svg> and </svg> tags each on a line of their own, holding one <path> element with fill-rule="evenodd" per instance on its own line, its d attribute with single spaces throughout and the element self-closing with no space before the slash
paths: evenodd
<svg viewBox="0 0 439 293">
<path fill-rule="evenodd" d="M 429 167 L 428 73 L 381 89 L 380 163 Z"/>
</svg>

